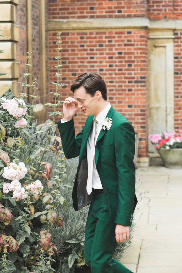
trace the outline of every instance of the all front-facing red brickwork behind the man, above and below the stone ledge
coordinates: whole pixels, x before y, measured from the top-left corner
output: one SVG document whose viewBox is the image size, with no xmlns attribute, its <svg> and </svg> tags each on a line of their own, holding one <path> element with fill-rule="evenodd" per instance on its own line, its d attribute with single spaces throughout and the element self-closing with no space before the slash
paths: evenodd
<svg viewBox="0 0 182 273">
<path fill-rule="evenodd" d="M 182 19 L 182 0 L 99 1 L 50 0 L 49 19 L 148 17 L 150 20 Z M 61 31 L 61 30 L 60 30 Z M 50 80 L 55 81 L 54 57 L 57 33 L 49 33 Z M 182 32 L 174 39 L 175 130 L 182 122 Z M 139 134 L 140 157 L 147 155 L 147 31 L 123 29 L 62 33 L 62 82 L 60 98 L 72 96 L 72 81 L 84 72 L 97 71 L 106 81 L 108 100 Z M 51 91 L 54 86 L 51 87 Z M 50 98 L 53 102 L 53 98 Z M 58 119 L 56 120 L 58 121 Z M 77 113 L 76 133 L 85 117 Z"/>
</svg>

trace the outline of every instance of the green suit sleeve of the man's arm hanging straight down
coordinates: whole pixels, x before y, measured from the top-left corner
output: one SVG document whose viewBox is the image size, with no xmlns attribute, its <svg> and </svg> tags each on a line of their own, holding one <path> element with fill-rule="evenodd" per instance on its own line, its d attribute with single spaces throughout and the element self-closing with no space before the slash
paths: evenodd
<svg viewBox="0 0 182 273">
<path fill-rule="evenodd" d="M 135 198 L 135 132 L 129 122 L 120 124 L 114 133 L 118 174 L 118 203 L 115 223 L 131 226 Z"/>
</svg>

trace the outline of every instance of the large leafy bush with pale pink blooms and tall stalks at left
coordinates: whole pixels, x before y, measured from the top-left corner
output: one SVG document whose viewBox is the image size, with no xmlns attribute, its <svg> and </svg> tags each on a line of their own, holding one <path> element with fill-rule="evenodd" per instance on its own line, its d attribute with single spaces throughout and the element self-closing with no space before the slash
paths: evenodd
<svg viewBox="0 0 182 273">
<path fill-rule="evenodd" d="M 60 33 L 57 38 L 55 98 L 59 96 L 58 88 L 65 85 L 59 84 Z M 62 227 L 58 210 L 61 206 L 66 208 L 62 189 L 67 185 L 62 181 L 68 174 L 67 163 L 54 124 L 55 116 L 61 115 L 56 107 L 62 102 L 55 99 L 55 104 L 50 105 L 52 122 L 44 128 L 32 123 L 37 82 L 33 81 L 33 95 L 25 93 L 30 86 L 27 78 L 31 76 L 28 73 L 31 52 L 27 53 L 21 99 L 16 99 L 10 90 L 0 98 L 0 271 L 8 273 L 55 271 L 52 257 L 58 254 L 58 249 L 50 229 Z M 27 96 L 32 98 L 32 105 L 25 102 Z M 35 140 L 42 142 L 36 144 Z M 46 157 L 47 154 L 51 156 Z"/>
</svg>

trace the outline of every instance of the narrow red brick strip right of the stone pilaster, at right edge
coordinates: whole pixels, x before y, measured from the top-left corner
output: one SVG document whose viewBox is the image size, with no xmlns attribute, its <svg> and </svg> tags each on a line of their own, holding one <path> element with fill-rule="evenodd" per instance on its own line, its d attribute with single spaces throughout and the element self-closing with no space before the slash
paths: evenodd
<svg viewBox="0 0 182 273">
<path fill-rule="evenodd" d="M 182 129 L 182 31 L 174 32 L 174 129 Z"/>
</svg>

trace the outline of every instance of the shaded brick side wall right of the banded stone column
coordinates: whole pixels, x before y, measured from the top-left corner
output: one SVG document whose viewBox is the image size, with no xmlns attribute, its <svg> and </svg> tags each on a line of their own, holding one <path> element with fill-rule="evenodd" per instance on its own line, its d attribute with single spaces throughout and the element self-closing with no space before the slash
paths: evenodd
<svg viewBox="0 0 182 273">
<path fill-rule="evenodd" d="M 45 0 L 45 22 L 46 22 L 46 49 L 47 49 L 47 94 L 49 96 L 49 66 L 48 66 L 48 0 Z M 26 29 L 26 0 L 19 0 L 19 5 L 16 8 L 16 23 L 20 26 L 20 39 L 17 42 L 17 60 L 20 62 L 20 78 L 19 82 L 25 83 L 24 73 L 26 67 L 23 66 L 26 62 L 27 51 L 27 29 Z M 39 45 L 39 1 L 32 0 L 32 78 L 37 79 L 39 89 L 36 91 L 40 96 L 40 45 Z M 23 87 L 17 83 L 18 94 L 23 92 Z M 26 91 L 27 92 L 27 91 Z M 40 99 L 36 99 L 36 103 L 40 103 Z"/>
</svg>

